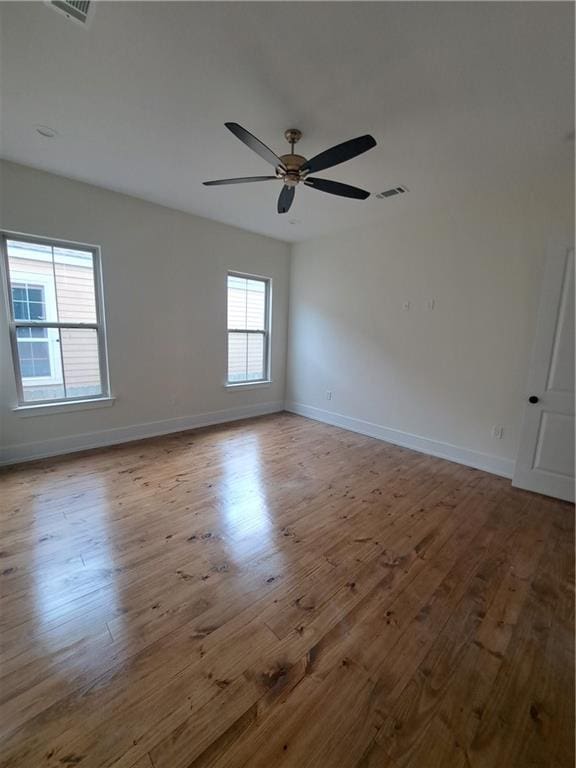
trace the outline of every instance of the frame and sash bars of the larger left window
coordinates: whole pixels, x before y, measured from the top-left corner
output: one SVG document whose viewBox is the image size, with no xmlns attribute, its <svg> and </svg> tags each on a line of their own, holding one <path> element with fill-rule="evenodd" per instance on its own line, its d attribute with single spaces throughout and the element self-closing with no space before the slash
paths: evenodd
<svg viewBox="0 0 576 768">
<path fill-rule="evenodd" d="M 14 317 L 14 306 L 12 302 L 12 282 L 10 280 L 10 267 L 8 262 L 8 240 L 16 240 L 22 243 L 31 243 L 33 245 L 46 245 L 52 248 L 78 249 L 89 252 L 92 255 L 92 271 L 94 275 L 94 301 L 96 305 L 96 322 L 94 323 L 73 323 L 44 320 L 16 320 Z M 5 305 L 7 310 L 8 333 L 10 336 L 10 347 L 12 350 L 12 364 L 14 367 L 14 378 L 16 383 L 16 392 L 18 397 L 18 409 L 38 409 L 43 406 L 65 406 L 74 403 L 83 403 L 98 400 L 110 400 L 110 378 L 108 371 L 108 349 L 106 344 L 106 322 L 104 312 L 104 292 L 102 282 L 102 258 L 100 247 L 87 243 L 79 243 L 72 240 L 58 240 L 55 238 L 41 237 L 36 235 L 25 235 L 20 232 L 9 230 L 0 230 L 0 273 L 5 296 Z M 16 281 L 17 284 L 18 281 Z M 56 289 L 56 287 L 55 287 Z M 85 395 L 73 397 L 50 398 L 48 400 L 25 400 L 24 383 L 22 371 L 20 369 L 20 357 L 18 354 L 18 336 L 19 327 L 38 327 L 38 328 L 56 328 L 58 330 L 82 329 L 95 330 L 98 342 L 98 367 L 100 372 L 101 391 L 98 395 Z M 60 342 L 61 343 L 61 342 Z M 62 365 L 62 360 L 60 360 Z M 63 365 L 62 365 L 63 368 Z M 64 372 L 62 371 L 64 376 Z M 24 377 L 25 379 L 28 377 Z M 39 383 L 35 381 L 35 383 Z M 65 387 L 65 379 L 63 378 Z"/>
</svg>

